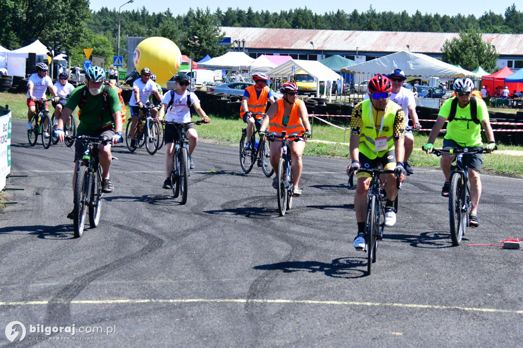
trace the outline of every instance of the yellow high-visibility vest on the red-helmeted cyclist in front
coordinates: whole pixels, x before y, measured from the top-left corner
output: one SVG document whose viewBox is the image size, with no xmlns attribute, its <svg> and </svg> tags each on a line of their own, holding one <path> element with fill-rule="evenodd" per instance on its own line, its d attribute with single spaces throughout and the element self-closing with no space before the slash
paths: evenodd
<svg viewBox="0 0 523 348">
<path fill-rule="evenodd" d="M 394 139 L 392 137 L 394 132 L 394 119 L 396 118 L 396 113 L 398 110 L 402 110 L 401 106 L 397 105 L 395 102 L 390 101 L 387 104 L 385 113 L 383 115 L 383 129 L 381 133 L 379 131 L 381 127 L 381 121 L 378 121 L 377 124 L 374 115 L 372 115 L 372 122 L 369 118 L 369 112 L 371 108 L 370 99 L 364 100 L 361 103 L 361 136 L 359 143 L 359 152 L 367 156 L 369 159 L 374 159 L 377 157 L 382 157 L 390 150 L 394 149 Z M 377 128 L 377 129 L 376 129 Z M 387 137 L 387 149 L 377 151 L 376 141 L 377 137 L 386 136 Z"/>
</svg>

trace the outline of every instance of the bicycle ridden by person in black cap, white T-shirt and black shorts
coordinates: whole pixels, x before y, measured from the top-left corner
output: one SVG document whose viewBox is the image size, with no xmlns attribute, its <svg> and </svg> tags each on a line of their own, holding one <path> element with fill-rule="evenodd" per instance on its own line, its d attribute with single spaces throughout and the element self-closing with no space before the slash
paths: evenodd
<svg viewBox="0 0 523 348">
<path fill-rule="evenodd" d="M 185 128 L 187 124 L 202 124 L 203 121 L 196 122 L 170 122 L 162 121 L 164 124 L 171 124 L 176 127 L 178 140 L 173 151 L 173 171 L 170 175 L 170 181 L 173 187 L 173 197 L 181 199 L 181 204 L 187 203 L 187 178 L 190 176 L 189 171 L 189 141 L 185 137 Z"/>
</svg>

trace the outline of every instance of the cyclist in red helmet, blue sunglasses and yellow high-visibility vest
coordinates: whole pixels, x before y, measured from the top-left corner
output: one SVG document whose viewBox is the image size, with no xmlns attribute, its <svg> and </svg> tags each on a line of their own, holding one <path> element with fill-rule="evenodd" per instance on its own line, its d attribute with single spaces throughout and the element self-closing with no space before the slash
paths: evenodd
<svg viewBox="0 0 523 348">
<path fill-rule="evenodd" d="M 397 195 L 396 175 L 405 181 L 406 171 L 403 167 L 405 113 L 401 106 L 390 100 L 392 85 L 385 75 L 376 75 L 369 80 L 368 94 L 370 99 L 363 100 L 354 107 L 350 120 L 350 171 L 360 167 L 371 169 L 381 166 L 384 170 L 394 170 L 395 174 L 384 174 L 387 201 L 385 203 L 385 226 L 396 223 L 394 200 Z M 365 216 L 367 211 L 367 192 L 370 186 L 369 173 L 357 173 L 358 185 L 354 196 L 354 208 L 358 234 L 354 239 L 356 250 L 363 250 L 365 240 Z"/>
</svg>

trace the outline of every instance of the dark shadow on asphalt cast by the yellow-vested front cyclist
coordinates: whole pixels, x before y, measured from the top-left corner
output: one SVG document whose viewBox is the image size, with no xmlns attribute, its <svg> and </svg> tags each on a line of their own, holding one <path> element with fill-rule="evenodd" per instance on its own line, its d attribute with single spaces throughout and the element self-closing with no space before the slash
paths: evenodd
<svg viewBox="0 0 523 348">
<path fill-rule="evenodd" d="M 366 258 L 339 258 L 332 263 L 319 261 L 286 261 L 254 266 L 255 270 L 293 272 L 322 272 L 329 277 L 336 278 L 360 278 L 367 275 Z"/>
</svg>

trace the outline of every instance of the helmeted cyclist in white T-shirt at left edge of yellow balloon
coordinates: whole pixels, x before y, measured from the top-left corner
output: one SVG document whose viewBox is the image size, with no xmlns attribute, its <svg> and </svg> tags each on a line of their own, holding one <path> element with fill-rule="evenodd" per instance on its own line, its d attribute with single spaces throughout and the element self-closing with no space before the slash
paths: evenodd
<svg viewBox="0 0 523 348">
<path fill-rule="evenodd" d="M 143 108 L 151 94 L 154 94 L 156 99 L 162 100 L 162 97 L 158 92 L 158 87 L 156 87 L 156 83 L 153 80 L 151 80 L 151 70 L 145 67 L 140 71 L 140 78 L 137 78 L 132 84 L 131 100 L 129 100 L 132 121 L 131 147 L 137 147 L 136 140 L 134 139 L 134 134 L 136 133 L 138 120 L 141 116 L 143 116 L 143 111 L 140 109 Z M 151 109 L 151 116 L 153 118 L 156 118 L 157 112 L 158 111 L 156 109 Z"/>
</svg>

